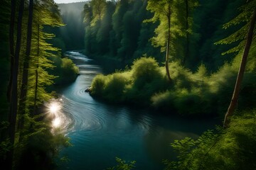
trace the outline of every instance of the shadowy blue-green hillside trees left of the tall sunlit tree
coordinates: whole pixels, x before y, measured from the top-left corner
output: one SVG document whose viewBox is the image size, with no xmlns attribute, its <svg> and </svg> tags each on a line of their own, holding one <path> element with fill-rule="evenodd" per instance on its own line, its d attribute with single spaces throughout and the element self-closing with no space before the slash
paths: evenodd
<svg viewBox="0 0 256 170">
<path fill-rule="evenodd" d="M 142 23 L 149 15 L 146 0 L 139 1 L 89 1 L 84 6 L 85 52 L 87 55 L 107 55 L 122 61 L 130 61 L 153 50 L 149 38 L 139 45 L 139 38 L 145 35 L 142 28 L 154 27 L 152 23 Z M 151 29 L 152 30 L 152 29 Z M 144 49 L 142 51 L 142 49 Z M 138 56 L 138 54 L 142 54 Z"/>
</svg>

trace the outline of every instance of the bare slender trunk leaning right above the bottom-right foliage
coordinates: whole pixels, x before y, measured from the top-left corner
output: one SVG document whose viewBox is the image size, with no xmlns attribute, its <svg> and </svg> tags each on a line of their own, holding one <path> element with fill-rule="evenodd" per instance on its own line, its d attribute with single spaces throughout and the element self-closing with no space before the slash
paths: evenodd
<svg viewBox="0 0 256 170">
<path fill-rule="evenodd" d="M 230 106 L 228 107 L 228 111 L 225 114 L 225 119 L 224 119 L 224 123 L 223 123 L 224 128 L 228 126 L 228 123 L 230 121 L 229 118 L 230 118 L 231 115 L 233 115 L 233 113 L 235 111 L 235 106 L 238 103 L 238 95 L 239 95 L 239 92 L 240 92 L 240 86 L 242 84 L 242 77 L 243 77 L 244 72 L 245 72 L 246 60 L 247 60 L 247 57 L 249 55 L 250 45 L 252 44 L 252 37 L 253 37 L 253 30 L 255 28 L 255 21 L 256 21 L 256 8 L 253 12 L 253 15 L 252 15 L 252 18 L 251 18 L 251 21 L 250 21 L 250 28 L 249 28 L 248 34 L 247 34 L 245 50 L 244 50 L 244 53 L 242 55 L 240 69 L 238 71 L 238 77 L 237 77 L 237 80 L 235 82 L 235 89 L 233 91 L 233 96 L 232 96 L 232 99 L 230 101 Z"/>
</svg>

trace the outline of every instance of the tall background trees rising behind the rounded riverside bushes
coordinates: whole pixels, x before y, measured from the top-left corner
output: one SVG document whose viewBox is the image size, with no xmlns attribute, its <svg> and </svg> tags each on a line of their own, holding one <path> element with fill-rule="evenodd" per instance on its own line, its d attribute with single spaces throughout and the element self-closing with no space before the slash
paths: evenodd
<svg viewBox="0 0 256 170">
<path fill-rule="evenodd" d="M 179 61 L 193 71 L 203 62 L 208 72 L 215 72 L 235 56 L 220 56 L 233 45 L 213 44 L 236 29 L 223 30 L 222 26 L 238 14 L 234 9 L 243 3 L 88 1 L 82 13 L 85 54 L 112 57 L 127 64 L 142 56 L 154 56 L 166 67 L 169 60 Z"/>
</svg>

